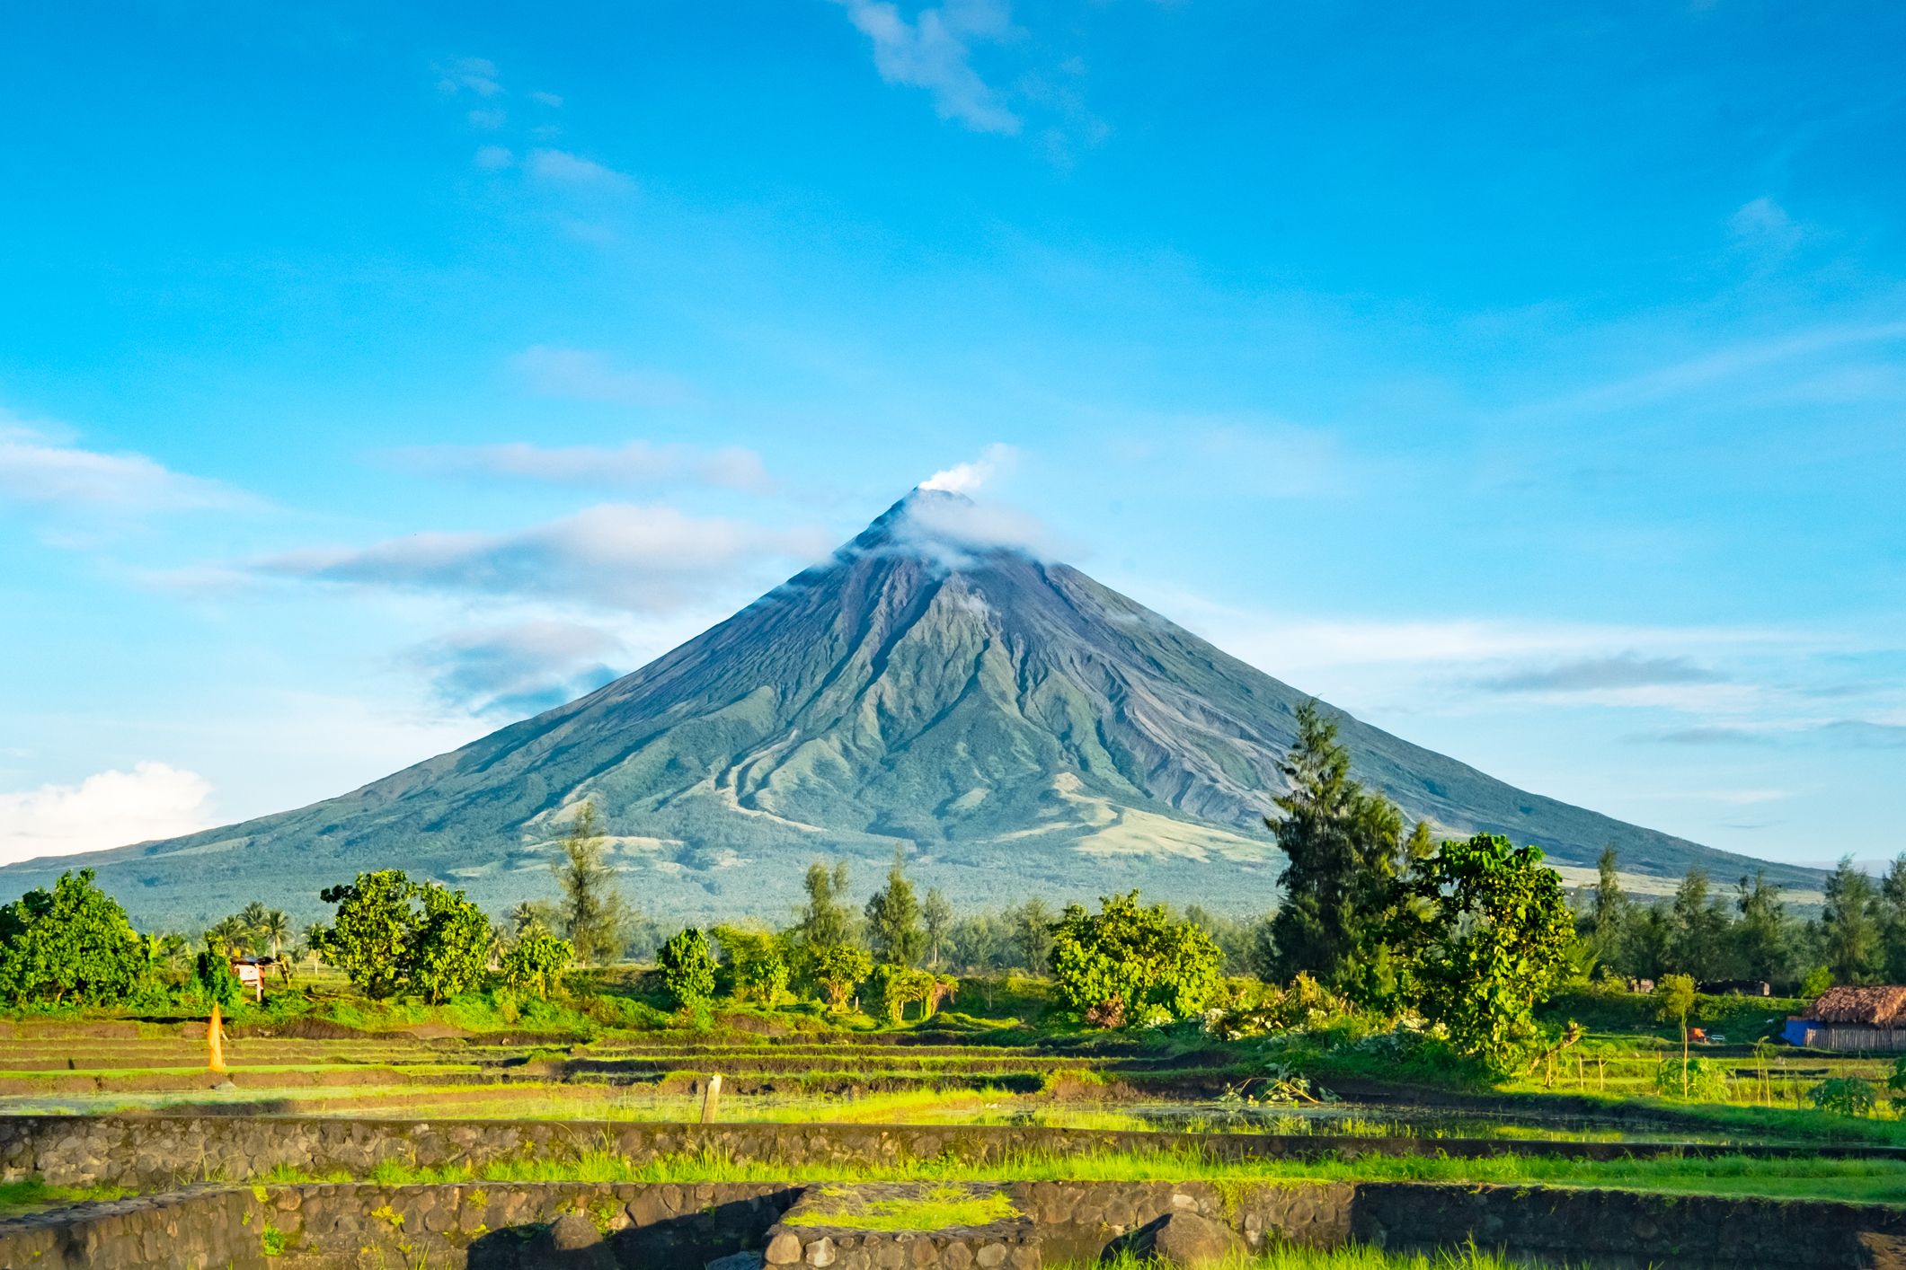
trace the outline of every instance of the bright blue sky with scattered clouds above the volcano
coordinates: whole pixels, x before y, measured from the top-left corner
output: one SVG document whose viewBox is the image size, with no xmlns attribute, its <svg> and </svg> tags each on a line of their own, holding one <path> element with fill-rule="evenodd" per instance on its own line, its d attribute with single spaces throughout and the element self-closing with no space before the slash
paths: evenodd
<svg viewBox="0 0 1906 1270">
<path fill-rule="evenodd" d="M 341 792 L 955 465 L 1521 786 L 1906 847 L 1906 10 L 0 13 L 0 859 Z"/>
</svg>

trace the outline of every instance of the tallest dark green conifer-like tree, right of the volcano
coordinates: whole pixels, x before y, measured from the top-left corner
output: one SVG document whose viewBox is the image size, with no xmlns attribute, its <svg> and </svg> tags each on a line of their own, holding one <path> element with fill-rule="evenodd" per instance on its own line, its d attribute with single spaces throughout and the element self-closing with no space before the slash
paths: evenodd
<svg viewBox="0 0 1906 1270">
<path fill-rule="evenodd" d="M 1283 817 L 1264 821 L 1285 853 L 1266 969 L 1273 979 L 1302 971 L 1340 984 L 1369 965 L 1388 935 L 1403 813 L 1349 779 L 1349 750 L 1315 701 L 1298 706 L 1296 724 L 1283 764 L 1290 792 L 1277 798 Z"/>
</svg>

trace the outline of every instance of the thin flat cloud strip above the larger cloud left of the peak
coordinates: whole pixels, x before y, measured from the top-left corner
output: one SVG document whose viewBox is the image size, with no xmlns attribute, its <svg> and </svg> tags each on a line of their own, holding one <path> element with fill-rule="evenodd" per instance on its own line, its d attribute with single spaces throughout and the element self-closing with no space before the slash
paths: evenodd
<svg viewBox="0 0 1906 1270">
<path fill-rule="evenodd" d="M 760 455 L 741 446 L 412 446 L 393 451 L 398 465 L 419 472 L 507 476 L 579 487 L 637 487 L 700 484 L 764 493 L 774 487 Z"/>
</svg>

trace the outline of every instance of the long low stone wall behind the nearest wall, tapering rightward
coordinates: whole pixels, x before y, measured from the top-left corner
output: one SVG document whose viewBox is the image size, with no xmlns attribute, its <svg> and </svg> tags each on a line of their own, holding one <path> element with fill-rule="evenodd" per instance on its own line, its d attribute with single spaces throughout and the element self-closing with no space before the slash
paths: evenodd
<svg viewBox="0 0 1906 1270">
<path fill-rule="evenodd" d="M 1024 1154 L 1184 1150 L 1205 1160 L 1321 1156 L 1574 1156 L 1755 1154 L 1900 1158 L 1887 1148 L 1740 1148 L 1641 1142 L 1281 1137 L 1269 1133 L 1113 1133 L 1022 1125 L 656 1125 L 513 1120 L 339 1120 L 294 1116 L 8 1116 L 0 1118 L 0 1181 L 170 1190 L 244 1182 L 274 1167 L 362 1177 L 391 1160 L 440 1169 L 499 1160 L 564 1160 L 612 1152 L 637 1163 L 715 1152 L 785 1167 L 882 1165 L 907 1160 L 987 1163 Z"/>
</svg>

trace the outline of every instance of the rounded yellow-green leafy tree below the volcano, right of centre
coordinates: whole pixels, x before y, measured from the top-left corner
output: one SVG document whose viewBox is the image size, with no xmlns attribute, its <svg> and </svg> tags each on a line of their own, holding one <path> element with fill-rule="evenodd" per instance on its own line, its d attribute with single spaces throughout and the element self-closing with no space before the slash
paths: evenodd
<svg viewBox="0 0 1906 1270">
<path fill-rule="evenodd" d="M 1218 990 L 1222 954 L 1203 929 L 1144 908 L 1138 891 L 1100 899 L 1100 912 L 1067 904 L 1052 931 L 1060 996 L 1088 1022 L 1123 1026 L 1189 1019 Z"/>
</svg>

